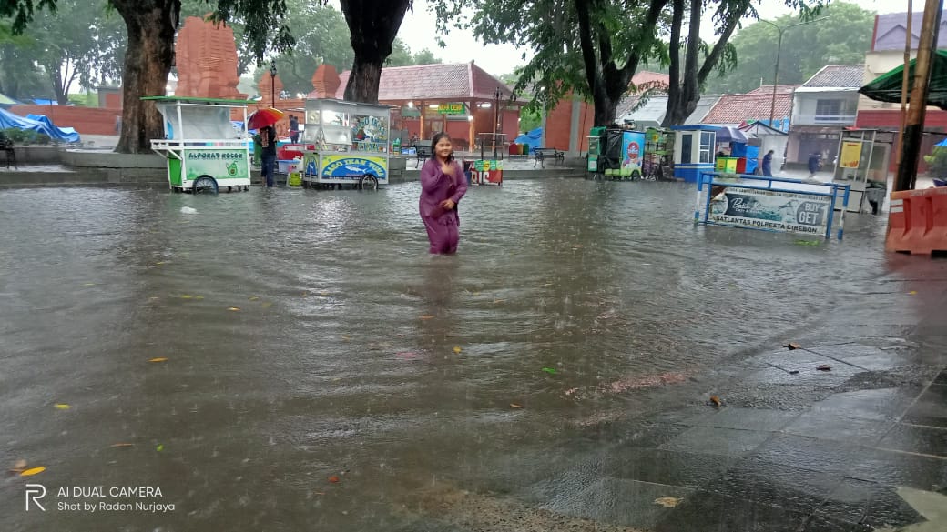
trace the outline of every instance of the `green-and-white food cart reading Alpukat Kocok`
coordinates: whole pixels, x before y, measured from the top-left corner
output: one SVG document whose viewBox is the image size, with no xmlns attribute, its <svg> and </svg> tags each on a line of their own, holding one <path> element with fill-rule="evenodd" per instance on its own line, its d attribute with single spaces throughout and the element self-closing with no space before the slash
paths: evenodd
<svg viewBox="0 0 947 532">
<path fill-rule="evenodd" d="M 250 189 L 250 139 L 230 121 L 246 100 L 146 97 L 164 117 L 165 138 L 152 140 L 152 151 L 168 160 L 168 183 L 175 192 L 212 192 L 226 187 Z"/>
</svg>

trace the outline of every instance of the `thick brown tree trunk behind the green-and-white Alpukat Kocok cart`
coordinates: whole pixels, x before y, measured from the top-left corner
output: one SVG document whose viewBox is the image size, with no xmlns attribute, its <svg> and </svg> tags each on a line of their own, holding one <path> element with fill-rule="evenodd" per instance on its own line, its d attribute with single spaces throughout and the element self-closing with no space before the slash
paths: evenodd
<svg viewBox="0 0 947 532">
<path fill-rule="evenodd" d="M 161 115 L 141 97 L 164 96 L 174 63 L 174 31 L 180 0 L 112 0 L 128 27 L 122 73 L 122 128 L 116 151 L 151 153 L 152 138 L 164 136 Z"/>
</svg>

